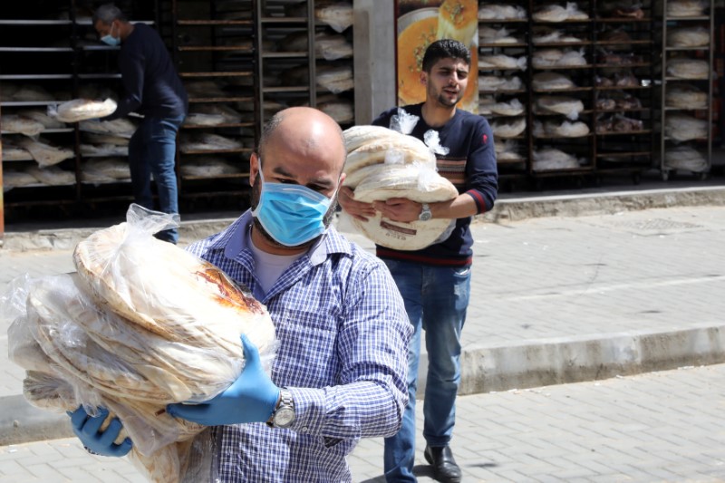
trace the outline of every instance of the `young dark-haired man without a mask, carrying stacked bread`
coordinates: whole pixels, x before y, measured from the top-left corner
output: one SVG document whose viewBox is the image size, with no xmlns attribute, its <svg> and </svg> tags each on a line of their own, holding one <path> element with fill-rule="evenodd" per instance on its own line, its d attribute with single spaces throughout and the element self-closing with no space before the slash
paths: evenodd
<svg viewBox="0 0 725 483">
<path fill-rule="evenodd" d="M 475 68 L 476 66 L 474 66 Z M 409 346 L 409 401 L 400 432 L 385 440 L 385 477 L 388 481 L 416 481 L 415 393 L 420 334 L 426 331 L 428 376 L 423 413 L 425 458 L 440 481 L 460 481 L 461 471 L 449 448 L 455 423 L 456 392 L 460 382 L 460 333 L 469 305 L 470 268 L 473 260 L 471 217 L 493 208 L 498 193 L 498 170 L 493 133 L 488 121 L 456 104 L 469 82 L 470 52 L 458 41 L 431 43 L 422 61 L 420 82 L 426 100 L 420 104 L 392 108 L 372 123 L 391 127 L 399 109 L 418 117 L 411 135 L 424 140 L 429 130 L 438 131 L 440 145 L 448 149 L 437 155 L 441 176 L 459 189 L 458 198 L 421 204 L 407 198 L 361 203 L 350 188 L 340 188 L 340 205 L 351 216 L 365 220 L 380 211 L 392 221 L 411 222 L 430 218 L 456 220 L 450 236 L 426 248 L 401 251 L 376 246 L 390 268 L 405 301 L 415 333 Z"/>
</svg>

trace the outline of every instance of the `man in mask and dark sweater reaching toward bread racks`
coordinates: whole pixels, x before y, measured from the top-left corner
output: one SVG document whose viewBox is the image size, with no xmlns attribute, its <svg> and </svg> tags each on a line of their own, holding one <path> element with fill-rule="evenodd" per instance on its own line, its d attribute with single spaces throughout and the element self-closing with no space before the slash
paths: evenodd
<svg viewBox="0 0 725 483">
<path fill-rule="evenodd" d="M 115 5 L 101 5 L 93 13 L 93 27 L 102 43 L 121 46 L 119 70 L 124 93 L 118 108 L 102 121 L 136 112 L 143 116 L 129 143 L 129 166 L 134 201 L 157 209 L 151 194 L 151 175 L 159 195 L 158 209 L 179 214 L 176 172 L 176 138 L 189 112 L 189 99 L 171 62 L 166 44 L 147 24 L 131 24 Z M 156 237 L 177 243 L 176 228 Z"/>
</svg>

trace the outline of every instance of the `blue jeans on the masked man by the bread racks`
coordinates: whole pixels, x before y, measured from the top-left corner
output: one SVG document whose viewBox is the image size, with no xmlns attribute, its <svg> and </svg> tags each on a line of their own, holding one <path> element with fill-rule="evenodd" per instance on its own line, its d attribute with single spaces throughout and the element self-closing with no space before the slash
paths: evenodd
<svg viewBox="0 0 725 483">
<path fill-rule="evenodd" d="M 133 198 L 143 208 L 154 208 L 151 196 L 151 176 L 159 193 L 159 208 L 164 213 L 179 216 L 179 189 L 174 164 L 176 135 L 185 116 L 170 118 L 146 117 L 131 136 L 129 166 Z M 176 228 L 156 234 L 160 240 L 176 244 Z"/>
</svg>

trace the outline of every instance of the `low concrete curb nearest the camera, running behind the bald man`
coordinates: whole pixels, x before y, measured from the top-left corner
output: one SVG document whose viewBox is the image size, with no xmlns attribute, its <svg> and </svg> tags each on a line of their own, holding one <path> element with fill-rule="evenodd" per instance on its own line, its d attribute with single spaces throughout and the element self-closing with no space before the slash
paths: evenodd
<svg viewBox="0 0 725 483">
<path fill-rule="evenodd" d="M 725 323 L 671 332 L 602 333 L 473 345 L 461 354 L 460 395 L 587 382 L 725 362 Z M 418 395 L 428 362 L 421 353 Z M 22 395 L 0 398 L 0 446 L 73 437 L 68 418 L 34 408 Z"/>
</svg>

